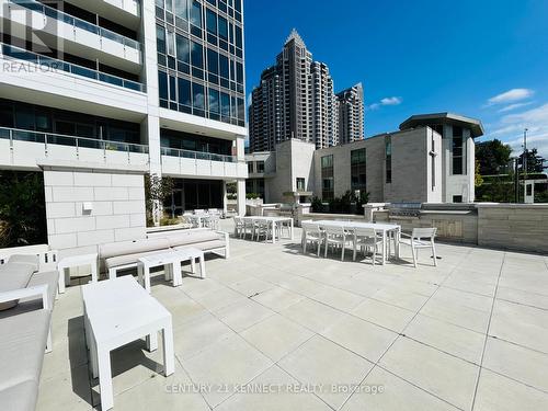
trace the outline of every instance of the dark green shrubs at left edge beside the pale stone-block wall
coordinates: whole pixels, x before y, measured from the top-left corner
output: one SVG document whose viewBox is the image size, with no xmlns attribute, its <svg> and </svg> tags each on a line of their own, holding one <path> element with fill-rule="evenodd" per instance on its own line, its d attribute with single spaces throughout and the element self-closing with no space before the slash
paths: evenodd
<svg viewBox="0 0 548 411">
<path fill-rule="evenodd" d="M 46 242 L 44 174 L 0 171 L 0 248 Z"/>
</svg>

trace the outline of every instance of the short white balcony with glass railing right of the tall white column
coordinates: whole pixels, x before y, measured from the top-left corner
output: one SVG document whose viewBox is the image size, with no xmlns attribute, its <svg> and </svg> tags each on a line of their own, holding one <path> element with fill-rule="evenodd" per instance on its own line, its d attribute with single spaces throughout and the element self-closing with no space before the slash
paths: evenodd
<svg viewBox="0 0 548 411">
<path fill-rule="evenodd" d="M 162 173 L 173 176 L 244 179 L 248 176 L 246 162 L 235 156 L 212 152 L 161 148 Z"/>
</svg>

